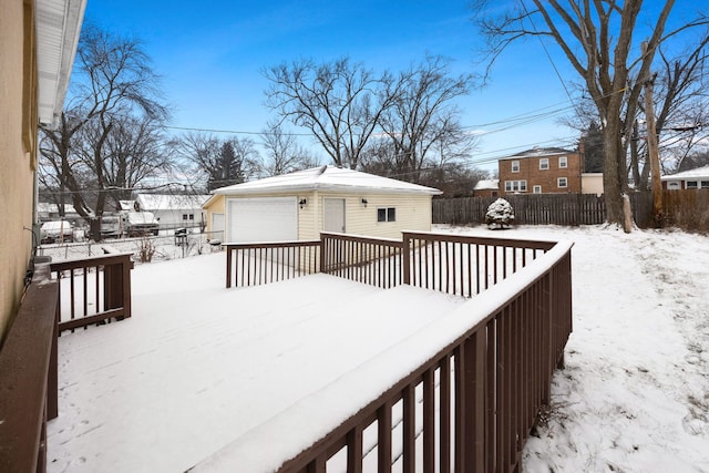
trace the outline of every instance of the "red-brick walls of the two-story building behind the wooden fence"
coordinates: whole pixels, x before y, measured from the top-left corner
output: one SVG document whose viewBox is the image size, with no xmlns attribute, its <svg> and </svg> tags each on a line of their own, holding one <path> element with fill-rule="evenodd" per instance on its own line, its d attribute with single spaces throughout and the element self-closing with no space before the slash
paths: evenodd
<svg viewBox="0 0 709 473">
<path fill-rule="evenodd" d="M 559 157 L 566 156 L 566 167 L 559 167 Z M 541 169 L 542 160 L 548 160 L 548 168 Z M 512 163 L 518 162 L 520 171 L 512 172 Z M 540 156 L 511 156 L 499 161 L 500 195 L 532 194 L 534 186 L 542 187 L 542 194 L 579 194 L 582 192 L 582 160 L 578 153 L 559 153 Z M 558 187 L 558 178 L 566 178 L 566 187 Z M 506 182 L 526 182 L 526 191 L 507 192 Z"/>
</svg>

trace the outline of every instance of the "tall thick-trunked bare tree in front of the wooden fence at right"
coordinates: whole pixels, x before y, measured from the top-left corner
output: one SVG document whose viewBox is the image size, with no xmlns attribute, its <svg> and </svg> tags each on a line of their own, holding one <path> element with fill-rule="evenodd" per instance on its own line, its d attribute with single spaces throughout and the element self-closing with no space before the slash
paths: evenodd
<svg viewBox="0 0 709 473">
<path fill-rule="evenodd" d="M 489 2 L 480 0 L 481 11 Z M 600 119 L 604 136 L 604 192 L 608 222 L 624 224 L 623 195 L 627 189 L 626 150 L 633 123 L 624 116 L 635 116 L 644 82 L 649 78 L 655 52 L 665 38 L 665 25 L 674 6 L 666 1 L 653 21 L 645 54 L 633 43 L 638 29 L 641 0 L 618 4 L 610 0 L 569 1 L 533 0 L 536 10 L 528 11 L 523 1 L 517 10 L 500 18 L 482 17 L 480 25 L 487 37 L 494 58 L 506 45 L 527 35 L 549 37 L 585 83 Z M 546 29 L 527 25 L 527 20 L 541 18 Z M 693 21 L 684 28 L 696 25 Z M 534 23 L 532 23 L 534 24 Z M 633 53 L 637 54 L 633 55 Z M 625 113 L 624 113 L 625 109 Z M 626 232 L 629 227 L 625 226 Z"/>
</svg>

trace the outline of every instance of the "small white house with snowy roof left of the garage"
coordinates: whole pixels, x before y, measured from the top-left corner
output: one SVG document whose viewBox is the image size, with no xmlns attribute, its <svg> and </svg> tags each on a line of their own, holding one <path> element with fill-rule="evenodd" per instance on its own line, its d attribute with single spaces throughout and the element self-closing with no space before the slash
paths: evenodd
<svg viewBox="0 0 709 473">
<path fill-rule="evenodd" d="M 138 194 L 135 202 L 141 212 L 151 212 L 163 229 L 204 227 L 206 212 L 202 206 L 208 195 Z"/>
</svg>

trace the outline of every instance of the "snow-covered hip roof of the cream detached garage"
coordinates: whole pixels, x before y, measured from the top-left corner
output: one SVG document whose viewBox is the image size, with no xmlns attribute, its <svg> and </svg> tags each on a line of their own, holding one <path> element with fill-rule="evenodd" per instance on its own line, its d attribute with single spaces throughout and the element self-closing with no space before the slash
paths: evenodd
<svg viewBox="0 0 709 473">
<path fill-rule="evenodd" d="M 310 191 L 349 191 L 380 194 L 442 194 L 441 191 L 433 187 L 425 187 L 335 166 L 312 167 L 280 176 L 220 187 L 215 189 L 214 193 L 243 195 L 264 193 L 287 194 Z"/>
</svg>

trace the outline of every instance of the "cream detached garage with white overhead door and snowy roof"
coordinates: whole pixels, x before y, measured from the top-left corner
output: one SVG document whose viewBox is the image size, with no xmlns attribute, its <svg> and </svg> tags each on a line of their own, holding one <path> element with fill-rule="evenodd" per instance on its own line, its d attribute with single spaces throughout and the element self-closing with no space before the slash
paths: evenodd
<svg viewBox="0 0 709 473">
<path fill-rule="evenodd" d="M 207 229 L 223 229 L 229 243 L 317 239 L 320 232 L 400 239 L 402 230 L 431 229 L 431 198 L 439 194 L 321 166 L 215 189 L 204 208 Z"/>
</svg>

